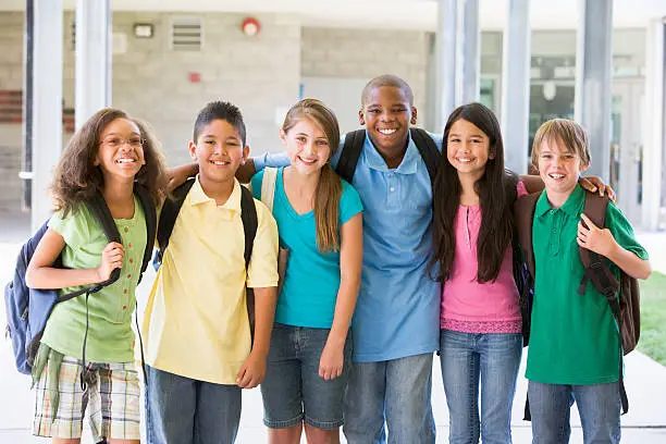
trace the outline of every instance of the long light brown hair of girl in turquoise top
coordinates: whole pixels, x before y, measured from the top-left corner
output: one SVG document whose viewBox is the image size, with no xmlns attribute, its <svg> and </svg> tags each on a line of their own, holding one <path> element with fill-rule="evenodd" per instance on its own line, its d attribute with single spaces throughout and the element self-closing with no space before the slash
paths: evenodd
<svg viewBox="0 0 666 444">
<path fill-rule="evenodd" d="M 329 140 L 329 160 L 340 147 L 340 126 L 335 113 L 322 101 L 304 99 L 292 107 L 284 118 L 282 131 L 288 133 L 299 121 L 311 119 L 323 130 Z M 317 227 L 317 247 L 321 252 L 340 251 L 340 196 L 342 183 L 331 168 L 331 163 L 321 169 L 317 190 L 314 192 L 314 224 Z"/>
</svg>

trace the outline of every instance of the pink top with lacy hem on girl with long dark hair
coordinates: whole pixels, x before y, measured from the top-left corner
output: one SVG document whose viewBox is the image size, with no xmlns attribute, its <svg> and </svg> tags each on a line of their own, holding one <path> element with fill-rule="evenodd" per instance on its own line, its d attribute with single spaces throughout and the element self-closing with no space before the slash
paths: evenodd
<svg viewBox="0 0 666 444">
<path fill-rule="evenodd" d="M 518 182 L 518 197 L 527 189 Z M 520 333 L 518 289 L 514 281 L 511 247 L 506 249 L 497 279 L 477 282 L 477 240 L 481 207 L 458 207 L 455 219 L 456 256 L 442 292 L 440 326 L 465 333 Z"/>
</svg>

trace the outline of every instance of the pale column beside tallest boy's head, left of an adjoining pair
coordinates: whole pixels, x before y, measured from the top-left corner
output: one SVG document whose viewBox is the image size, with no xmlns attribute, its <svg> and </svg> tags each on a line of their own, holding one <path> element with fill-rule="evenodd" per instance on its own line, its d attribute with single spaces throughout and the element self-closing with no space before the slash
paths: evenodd
<svg viewBox="0 0 666 444">
<path fill-rule="evenodd" d="M 448 114 L 456 108 L 456 59 L 458 38 L 458 1 L 440 0 L 435 35 L 435 122 L 444 127 Z"/>
</svg>

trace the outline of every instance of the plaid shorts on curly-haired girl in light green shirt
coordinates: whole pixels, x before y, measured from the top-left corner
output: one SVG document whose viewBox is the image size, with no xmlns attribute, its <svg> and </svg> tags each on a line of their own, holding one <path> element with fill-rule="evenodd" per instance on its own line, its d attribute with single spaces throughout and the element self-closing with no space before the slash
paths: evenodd
<svg viewBox="0 0 666 444">
<path fill-rule="evenodd" d="M 49 356 L 37 384 L 33 434 L 36 436 L 78 439 L 88 409 L 95 442 L 103 439 L 139 440 L 140 391 L 134 362 L 95 363 L 86 367 L 87 388 L 81 387 L 83 365 L 63 357 Z M 57 385 L 52 378 L 58 378 Z M 57 387 L 57 388 L 55 388 Z"/>
</svg>

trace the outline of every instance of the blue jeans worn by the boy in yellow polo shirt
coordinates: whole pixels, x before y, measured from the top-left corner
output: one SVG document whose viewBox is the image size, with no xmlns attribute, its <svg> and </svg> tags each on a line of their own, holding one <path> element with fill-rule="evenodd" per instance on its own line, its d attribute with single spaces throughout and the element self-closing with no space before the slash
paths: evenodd
<svg viewBox="0 0 666 444">
<path fill-rule="evenodd" d="M 148 444 L 232 444 L 240 387 L 180 377 L 146 366 Z"/>
</svg>

